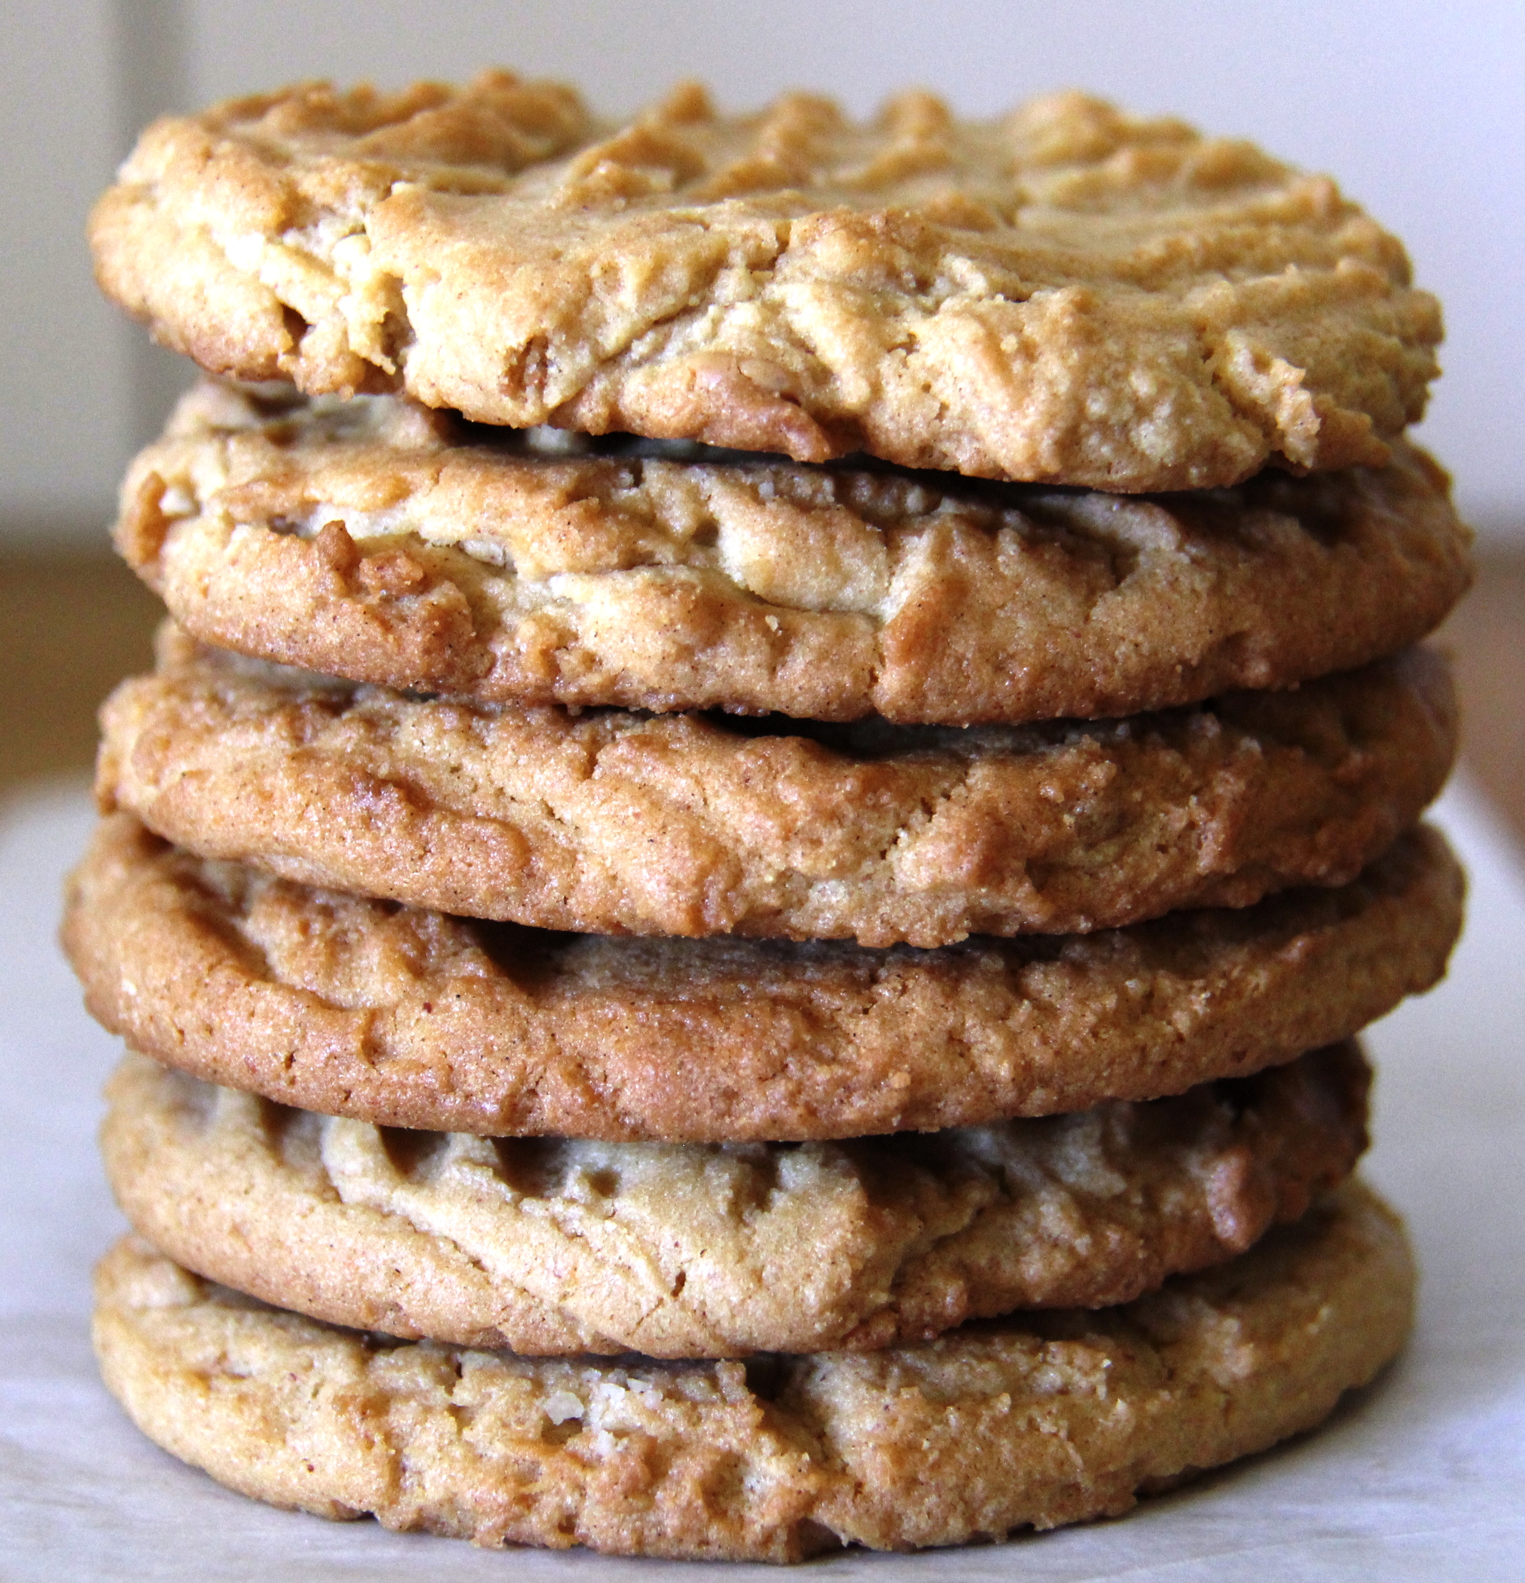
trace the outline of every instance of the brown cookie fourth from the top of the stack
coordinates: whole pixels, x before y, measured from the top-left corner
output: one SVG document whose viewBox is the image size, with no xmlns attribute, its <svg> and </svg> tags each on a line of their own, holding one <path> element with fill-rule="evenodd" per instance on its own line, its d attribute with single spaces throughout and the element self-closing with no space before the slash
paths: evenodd
<svg viewBox="0 0 1525 1583">
<path fill-rule="evenodd" d="M 383 1126 L 852 1138 L 1242 1076 L 1433 985 L 1462 872 L 1427 829 L 1340 890 L 937 951 L 553 936 L 168 847 L 106 818 L 68 885 L 90 1012 L 158 1061 Z"/>
</svg>

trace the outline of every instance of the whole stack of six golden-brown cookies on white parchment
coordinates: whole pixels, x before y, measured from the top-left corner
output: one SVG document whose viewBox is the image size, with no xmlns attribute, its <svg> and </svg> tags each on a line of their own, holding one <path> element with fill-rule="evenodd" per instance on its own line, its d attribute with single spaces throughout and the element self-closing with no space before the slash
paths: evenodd
<svg viewBox="0 0 1525 1583">
<path fill-rule="evenodd" d="M 489 73 L 160 122 L 93 244 L 215 375 L 65 921 L 147 1434 L 792 1559 L 1126 1510 L 1397 1352 L 1352 1035 L 1460 923 L 1466 532 L 1332 182 Z"/>
</svg>

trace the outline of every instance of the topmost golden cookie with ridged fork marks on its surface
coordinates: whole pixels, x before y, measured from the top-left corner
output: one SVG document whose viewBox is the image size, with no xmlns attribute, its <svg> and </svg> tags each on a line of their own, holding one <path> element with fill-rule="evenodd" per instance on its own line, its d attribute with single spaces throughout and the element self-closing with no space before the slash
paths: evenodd
<svg viewBox="0 0 1525 1583">
<path fill-rule="evenodd" d="M 1441 334 L 1327 177 L 1078 93 L 614 127 L 500 71 L 309 84 L 157 122 L 90 236 L 214 372 L 1097 489 L 1382 465 Z"/>
</svg>

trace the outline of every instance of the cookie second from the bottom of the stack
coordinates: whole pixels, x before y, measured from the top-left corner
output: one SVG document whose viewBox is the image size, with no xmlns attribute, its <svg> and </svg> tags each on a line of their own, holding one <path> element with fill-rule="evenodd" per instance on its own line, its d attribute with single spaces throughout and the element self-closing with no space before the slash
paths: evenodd
<svg viewBox="0 0 1525 1583">
<path fill-rule="evenodd" d="M 101 1151 L 162 1252 L 336 1325 L 521 1353 L 871 1350 L 1243 1252 L 1351 1171 L 1370 1076 L 1346 1043 L 1148 1103 L 705 1146 L 386 1132 L 130 1054 Z"/>
</svg>

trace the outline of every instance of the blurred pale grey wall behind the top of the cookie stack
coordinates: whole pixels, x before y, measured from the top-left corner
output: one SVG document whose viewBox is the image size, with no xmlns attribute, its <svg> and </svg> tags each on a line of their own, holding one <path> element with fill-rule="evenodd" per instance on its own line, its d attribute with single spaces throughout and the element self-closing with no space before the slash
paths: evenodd
<svg viewBox="0 0 1525 1583">
<path fill-rule="evenodd" d="M 0 548 L 100 533 L 176 359 L 117 323 L 81 231 L 160 109 L 302 76 L 494 62 L 626 111 L 676 78 L 746 108 L 790 85 L 869 111 L 926 84 L 966 114 L 1083 85 L 1333 171 L 1446 304 L 1425 442 L 1465 511 L 1525 546 L 1525 5 L 1519 0 L 8 0 L 0 30 Z"/>
</svg>

